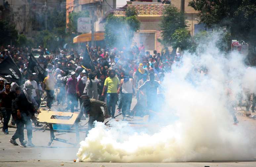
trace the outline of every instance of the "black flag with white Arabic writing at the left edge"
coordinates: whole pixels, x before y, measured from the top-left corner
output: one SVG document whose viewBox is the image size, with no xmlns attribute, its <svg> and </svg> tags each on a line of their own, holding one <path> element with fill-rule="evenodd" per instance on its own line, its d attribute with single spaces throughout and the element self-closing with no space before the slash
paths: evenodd
<svg viewBox="0 0 256 167">
<path fill-rule="evenodd" d="M 21 71 L 10 56 L 0 63 L 0 76 L 8 82 L 16 82 L 18 85 L 22 84 L 23 76 Z"/>
</svg>

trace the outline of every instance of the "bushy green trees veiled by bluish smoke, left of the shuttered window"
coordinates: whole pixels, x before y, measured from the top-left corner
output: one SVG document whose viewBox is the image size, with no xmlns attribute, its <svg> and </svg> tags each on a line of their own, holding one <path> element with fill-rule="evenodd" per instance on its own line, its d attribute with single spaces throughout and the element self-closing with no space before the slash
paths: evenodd
<svg viewBox="0 0 256 167">
<path fill-rule="evenodd" d="M 140 21 L 135 15 L 117 17 L 110 14 L 104 28 L 105 41 L 108 46 L 130 47 L 134 32 L 140 29 Z"/>
</svg>

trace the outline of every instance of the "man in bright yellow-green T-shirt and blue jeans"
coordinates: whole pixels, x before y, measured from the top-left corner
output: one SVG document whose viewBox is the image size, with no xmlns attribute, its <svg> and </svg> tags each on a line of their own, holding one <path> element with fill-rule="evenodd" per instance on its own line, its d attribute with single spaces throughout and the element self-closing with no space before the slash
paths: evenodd
<svg viewBox="0 0 256 167">
<path fill-rule="evenodd" d="M 107 109 L 109 112 L 109 115 L 111 115 L 112 118 L 115 116 L 115 103 L 117 101 L 117 89 L 120 85 L 119 79 L 115 76 L 115 70 L 109 70 L 108 76 L 105 80 L 102 95 L 104 96 L 104 93 L 107 88 Z"/>
</svg>

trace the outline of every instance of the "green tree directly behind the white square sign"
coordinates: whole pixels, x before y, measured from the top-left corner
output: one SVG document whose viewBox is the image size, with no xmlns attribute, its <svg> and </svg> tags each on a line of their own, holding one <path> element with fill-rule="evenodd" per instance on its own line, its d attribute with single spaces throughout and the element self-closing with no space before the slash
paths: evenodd
<svg viewBox="0 0 256 167">
<path fill-rule="evenodd" d="M 69 22 L 67 26 L 70 33 L 77 33 L 77 19 L 81 17 L 90 17 L 89 11 L 73 12 L 68 15 Z"/>
</svg>

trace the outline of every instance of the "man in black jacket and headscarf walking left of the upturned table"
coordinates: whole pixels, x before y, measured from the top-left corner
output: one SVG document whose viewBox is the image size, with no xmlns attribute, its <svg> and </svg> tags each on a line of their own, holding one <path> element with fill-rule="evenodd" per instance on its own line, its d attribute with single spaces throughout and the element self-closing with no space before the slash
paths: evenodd
<svg viewBox="0 0 256 167">
<path fill-rule="evenodd" d="M 17 110 L 16 123 L 21 147 L 26 147 L 24 143 L 24 125 L 26 125 L 27 129 L 28 146 L 34 147 L 31 141 L 32 124 L 30 119 L 32 116 L 34 116 L 36 109 L 32 103 L 32 89 L 34 88 L 31 84 L 26 85 L 21 94 L 16 97 L 13 104 L 14 108 Z"/>
</svg>

